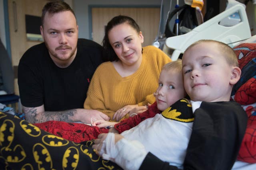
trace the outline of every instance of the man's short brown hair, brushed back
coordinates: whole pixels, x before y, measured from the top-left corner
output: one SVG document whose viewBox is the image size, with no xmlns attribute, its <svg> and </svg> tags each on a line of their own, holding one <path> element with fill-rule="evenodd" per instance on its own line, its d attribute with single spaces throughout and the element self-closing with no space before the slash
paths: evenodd
<svg viewBox="0 0 256 170">
<path fill-rule="evenodd" d="M 42 10 L 42 16 L 41 16 L 42 27 L 44 25 L 44 17 L 47 12 L 49 14 L 56 14 L 58 12 L 64 12 L 64 11 L 72 12 L 72 14 L 74 14 L 74 16 L 76 18 L 74 11 L 72 10 L 72 8 L 70 8 L 70 6 L 66 2 L 63 2 L 61 0 L 53 0 L 53 1 L 48 2 Z"/>
</svg>

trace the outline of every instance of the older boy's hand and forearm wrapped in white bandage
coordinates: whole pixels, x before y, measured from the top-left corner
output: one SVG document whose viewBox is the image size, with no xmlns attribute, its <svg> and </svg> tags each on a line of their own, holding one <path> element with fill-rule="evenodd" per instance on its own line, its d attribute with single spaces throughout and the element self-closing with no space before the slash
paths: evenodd
<svg viewBox="0 0 256 170">
<path fill-rule="evenodd" d="M 138 170 L 148 153 L 140 142 L 114 133 L 100 134 L 92 148 L 103 159 L 111 160 L 125 170 Z"/>
</svg>

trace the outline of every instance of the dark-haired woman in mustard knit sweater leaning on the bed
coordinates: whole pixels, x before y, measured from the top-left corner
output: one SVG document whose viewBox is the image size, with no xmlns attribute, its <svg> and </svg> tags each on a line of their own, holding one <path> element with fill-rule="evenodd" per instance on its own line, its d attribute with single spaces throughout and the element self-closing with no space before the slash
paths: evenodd
<svg viewBox="0 0 256 170">
<path fill-rule="evenodd" d="M 126 114 L 131 115 L 132 109 L 146 109 L 155 101 L 153 93 L 162 66 L 171 59 L 154 46 L 142 48 L 143 41 L 132 18 L 116 16 L 108 22 L 103 39 L 107 62 L 94 72 L 85 109 L 102 111 L 111 120 L 119 121 Z"/>
</svg>

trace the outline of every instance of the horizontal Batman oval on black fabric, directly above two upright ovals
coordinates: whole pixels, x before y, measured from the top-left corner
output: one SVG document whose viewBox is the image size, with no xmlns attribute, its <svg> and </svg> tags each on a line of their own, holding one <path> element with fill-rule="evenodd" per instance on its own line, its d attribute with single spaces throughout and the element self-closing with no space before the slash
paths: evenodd
<svg viewBox="0 0 256 170">
<path fill-rule="evenodd" d="M 69 141 L 55 135 L 44 135 L 42 141 L 45 145 L 52 147 L 62 147 L 68 145 Z"/>
</svg>

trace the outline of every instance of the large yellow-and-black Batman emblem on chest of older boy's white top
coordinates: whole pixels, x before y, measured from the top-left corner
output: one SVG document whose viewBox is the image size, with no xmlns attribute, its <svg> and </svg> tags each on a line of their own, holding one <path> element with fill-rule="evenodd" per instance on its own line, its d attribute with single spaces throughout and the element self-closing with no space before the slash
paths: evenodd
<svg viewBox="0 0 256 170">
<path fill-rule="evenodd" d="M 167 119 L 186 123 L 194 121 L 192 106 L 187 99 L 178 100 L 172 106 L 165 109 L 162 115 Z"/>
</svg>

